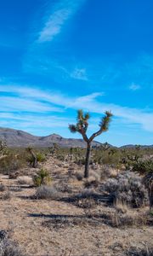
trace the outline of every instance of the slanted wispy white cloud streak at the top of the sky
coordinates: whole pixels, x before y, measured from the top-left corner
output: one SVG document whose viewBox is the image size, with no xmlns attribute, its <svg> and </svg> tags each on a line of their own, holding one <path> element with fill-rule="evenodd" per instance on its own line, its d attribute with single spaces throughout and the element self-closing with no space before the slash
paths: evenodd
<svg viewBox="0 0 153 256">
<path fill-rule="evenodd" d="M 54 5 L 50 15 L 47 15 L 44 26 L 39 32 L 37 42 L 43 43 L 52 41 L 56 35 L 61 32 L 65 21 L 69 20 L 77 9 L 82 5 L 84 0 L 60 0 Z"/>
</svg>

